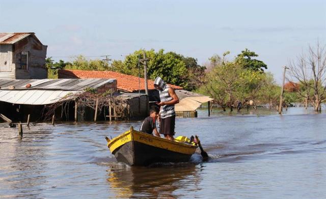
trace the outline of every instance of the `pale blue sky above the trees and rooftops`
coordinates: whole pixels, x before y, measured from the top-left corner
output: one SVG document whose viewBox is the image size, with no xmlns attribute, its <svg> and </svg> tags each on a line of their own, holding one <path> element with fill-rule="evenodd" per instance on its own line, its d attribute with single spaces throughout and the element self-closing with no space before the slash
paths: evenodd
<svg viewBox="0 0 326 199">
<path fill-rule="evenodd" d="M 282 66 L 309 44 L 326 43 L 326 1 L 0 0 L 0 32 L 34 32 L 47 56 L 66 61 L 163 48 L 203 64 L 248 48 L 281 82 Z"/>
</svg>

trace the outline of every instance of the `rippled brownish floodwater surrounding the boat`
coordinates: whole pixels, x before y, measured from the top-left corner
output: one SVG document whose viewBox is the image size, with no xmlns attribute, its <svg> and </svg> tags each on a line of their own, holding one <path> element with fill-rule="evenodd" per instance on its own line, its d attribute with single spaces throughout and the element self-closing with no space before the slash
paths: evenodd
<svg viewBox="0 0 326 199">
<path fill-rule="evenodd" d="M 0 198 L 326 198 L 326 114 L 206 111 L 176 132 L 198 134 L 209 161 L 149 167 L 118 163 L 104 139 L 141 121 L 24 126 L 22 140 L 2 123 Z"/>
</svg>

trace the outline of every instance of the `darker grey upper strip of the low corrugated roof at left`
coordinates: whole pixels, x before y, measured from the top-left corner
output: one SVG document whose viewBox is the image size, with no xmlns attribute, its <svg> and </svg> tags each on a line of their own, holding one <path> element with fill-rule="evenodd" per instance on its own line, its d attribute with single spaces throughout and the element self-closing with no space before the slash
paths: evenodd
<svg viewBox="0 0 326 199">
<path fill-rule="evenodd" d="M 115 79 L 0 79 L 0 90 L 64 90 L 82 91 L 86 88 L 96 89 L 106 83 L 115 83 Z M 26 88 L 30 83 L 31 88 Z M 15 87 L 12 89 L 12 87 Z"/>
</svg>

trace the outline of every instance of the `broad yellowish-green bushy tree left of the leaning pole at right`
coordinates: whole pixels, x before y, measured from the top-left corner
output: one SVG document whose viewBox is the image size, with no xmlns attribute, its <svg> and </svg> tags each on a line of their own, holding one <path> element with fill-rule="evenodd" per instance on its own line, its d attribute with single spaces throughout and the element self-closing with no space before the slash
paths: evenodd
<svg viewBox="0 0 326 199">
<path fill-rule="evenodd" d="M 267 94 L 262 91 L 264 89 L 271 91 L 272 87 L 276 87 L 273 75 L 245 68 L 237 62 L 237 58 L 227 61 L 225 59 L 227 54 L 229 52 L 224 53 L 223 58 L 214 55 L 209 59 L 210 65 L 213 65 L 212 70 L 194 78 L 200 84 L 197 91 L 211 96 L 224 109 L 230 106 L 231 110 L 238 102 L 242 104 L 249 100 L 259 102 L 260 99 L 264 99 L 264 103 L 268 100 L 274 101 L 276 93 L 270 93 L 267 100 L 264 98 Z"/>
</svg>

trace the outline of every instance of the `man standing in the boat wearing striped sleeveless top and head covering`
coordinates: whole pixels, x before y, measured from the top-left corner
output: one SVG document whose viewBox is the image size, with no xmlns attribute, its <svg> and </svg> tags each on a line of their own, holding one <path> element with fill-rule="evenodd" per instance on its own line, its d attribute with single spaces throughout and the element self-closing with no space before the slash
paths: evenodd
<svg viewBox="0 0 326 199">
<path fill-rule="evenodd" d="M 155 78 L 154 87 L 159 91 L 159 98 L 161 100 L 157 103 L 161 107 L 159 111 L 159 133 L 164 134 L 164 137 L 167 139 L 174 140 L 174 104 L 179 103 L 179 98 L 174 89 L 169 87 L 160 77 Z"/>
</svg>

